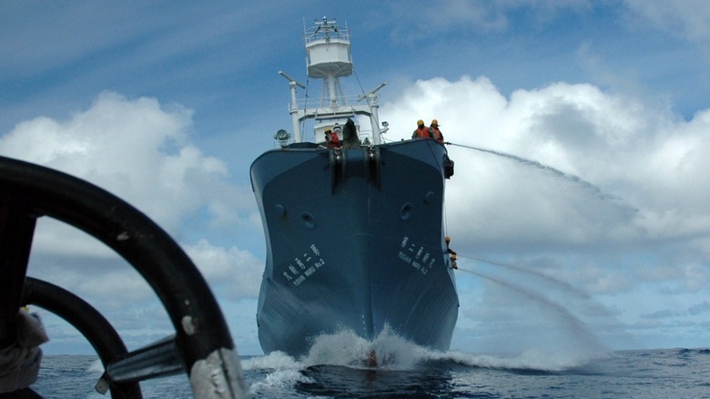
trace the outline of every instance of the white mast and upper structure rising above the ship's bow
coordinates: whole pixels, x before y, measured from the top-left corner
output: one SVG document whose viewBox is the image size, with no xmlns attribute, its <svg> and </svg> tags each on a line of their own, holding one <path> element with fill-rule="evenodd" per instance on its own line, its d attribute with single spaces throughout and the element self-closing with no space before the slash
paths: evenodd
<svg viewBox="0 0 710 399">
<path fill-rule="evenodd" d="M 320 99 L 299 100 L 296 97 L 297 87 L 306 87 L 279 71 L 279 75 L 289 80 L 291 91 L 289 113 L 293 124 L 294 141 L 304 141 L 300 127 L 306 119 L 315 120 L 313 127 L 315 141 L 322 141 L 319 138 L 323 138 L 322 133 L 326 128 L 332 128 L 335 123 L 344 125 L 348 118 L 363 115 L 370 118 L 373 144 L 380 144 L 381 134 L 385 130 L 380 130 L 378 126 L 380 106 L 375 93 L 384 87 L 385 83 L 358 97 L 347 97 L 340 85 L 340 77 L 349 77 L 353 70 L 350 29 L 347 26 L 339 26 L 335 20 L 329 21 L 324 16 L 322 21 L 317 21 L 315 26 L 304 31 L 303 38 L 306 43 L 308 76 L 321 79 L 323 86 Z M 366 100 L 365 104 L 361 104 L 363 99 Z M 308 101 L 313 104 L 309 104 Z"/>
</svg>

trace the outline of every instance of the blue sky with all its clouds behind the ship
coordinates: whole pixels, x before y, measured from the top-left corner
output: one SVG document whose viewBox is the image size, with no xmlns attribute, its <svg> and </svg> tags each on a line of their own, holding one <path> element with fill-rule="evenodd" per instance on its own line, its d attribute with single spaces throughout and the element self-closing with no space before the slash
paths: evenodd
<svg viewBox="0 0 710 399">
<path fill-rule="evenodd" d="M 350 27 L 348 94 L 381 82 L 387 141 L 437 118 L 455 161 L 451 349 L 564 359 L 710 346 L 710 3 L 0 2 L 0 155 L 145 212 L 215 292 L 240 354 L 264 234 L 249 165 L 290 130 L 304 24 Z M 299 91 L 299 97 L 305 96 Z M 136 349 L 173 332 L 137 272 L 41 218 L 28 275 Z M 42 314 L 46 353 L 93 353 Z"/>
</svg>

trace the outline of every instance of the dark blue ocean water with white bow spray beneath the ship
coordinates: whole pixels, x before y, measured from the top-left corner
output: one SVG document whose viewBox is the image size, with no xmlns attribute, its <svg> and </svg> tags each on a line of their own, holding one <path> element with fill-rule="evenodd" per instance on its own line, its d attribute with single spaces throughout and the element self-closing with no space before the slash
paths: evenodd
<svg viewBox="0 0 710 399">
<path fill-rule="evenodd" d="M 308 356 L 242 356 L 255 398 L 710 398 L 710 349 L 515 355 L 431 352 L 409 343 L 370 347 L 330 337 Z M 101 398 L 96 356 L 45 356 L 35 391 L 46 398 Z M 146 398 L 192 397 L 184 374 L 141 383 Z"/>
</svg>

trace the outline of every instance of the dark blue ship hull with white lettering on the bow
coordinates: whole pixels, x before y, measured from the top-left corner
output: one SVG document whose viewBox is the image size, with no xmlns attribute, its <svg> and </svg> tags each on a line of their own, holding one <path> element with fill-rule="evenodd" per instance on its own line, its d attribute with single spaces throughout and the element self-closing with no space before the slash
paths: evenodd
<svg viewBox="0 0 710 399">
<path fill-rule="evenodd" d="M 272 150 L 251 167 L 267 240 L 259 294 L 265 353 L 307 353 L 309 339 L 385 324 L 447 350 L 458 296 L 443 240 L 441 144 Z"/>
</svg>

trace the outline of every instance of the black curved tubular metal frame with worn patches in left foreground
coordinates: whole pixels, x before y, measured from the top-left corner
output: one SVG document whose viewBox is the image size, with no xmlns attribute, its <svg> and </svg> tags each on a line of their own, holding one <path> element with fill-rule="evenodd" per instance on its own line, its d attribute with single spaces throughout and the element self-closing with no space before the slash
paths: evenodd
<svg viewBox="0 0 710 399">
<path fill-rule="evenodd" d="M 101 334 L 96 325 L 99 330 L 113 328 L 96 323 L 90 305 L 86 308 L 74 294 L 45 281 L 25 281 L 35 220 L 40 217 L 86 231 L 130 263 L 166 308 L 174 337 L 126 353 L 123 343 L 96 341 L 95 335 Z M 164 230 L 104 189 L 54 169 L 0 157 L 0 275 L 0 347 L 14 339 L 23 302 L 44 307 L 42 303 L 54 300 L 61 303 L 59 308 L 48 310 L 75 325 L 99 352 L 106 387 L 118 395 L 113 397 L 135 397 L 132 384 L 183 371 L 195 397 L 247 394 L 227 322 L 207 281 Z"/>
</svg>

